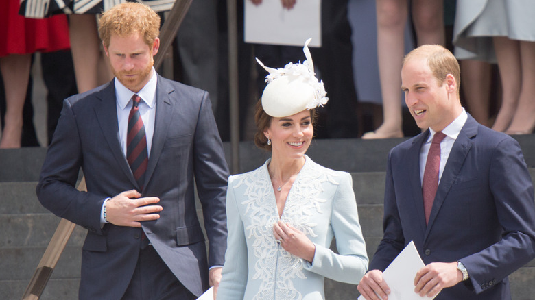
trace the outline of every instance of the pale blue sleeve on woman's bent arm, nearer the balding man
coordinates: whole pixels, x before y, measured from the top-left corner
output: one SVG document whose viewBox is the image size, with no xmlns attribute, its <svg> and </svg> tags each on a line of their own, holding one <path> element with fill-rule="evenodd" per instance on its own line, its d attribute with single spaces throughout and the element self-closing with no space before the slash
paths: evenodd
<svg viewBox="0 0 535 300">
<path fill-rule="evenodd" d="M 344 173 L 333 199 L 331 226 L 338 254 L 316 244 L 314 260 L 305 268 L 338 282 L 358 284 L 368 268 L 368 256 L 352 185 L 351 175 Z"/>
</svg>

